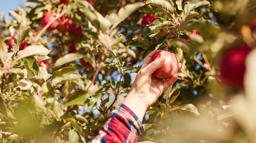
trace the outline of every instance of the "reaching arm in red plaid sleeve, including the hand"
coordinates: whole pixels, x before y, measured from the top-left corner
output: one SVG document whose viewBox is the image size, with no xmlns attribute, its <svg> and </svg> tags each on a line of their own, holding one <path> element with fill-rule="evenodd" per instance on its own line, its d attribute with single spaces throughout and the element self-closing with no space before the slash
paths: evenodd
<svg viewBox="0 0 256 143">
<path fill-rule="evenodd" d="M 137 142 L 138 135 L 144 131 L 141 121 L 147 108 L 155 103 L 178 77 L 178 74 L 175 74 L 171 79 L 163 82 L 152 76 L 152 73 L 164 64 L 164 58 L 150 63 L 154 52 L 144 59 L 130 92 L 117 109 L 112 111 L 110 119 L 103 125 L 103 130 L 95 136 L 92 143 Z M 179 69 L 181 69 L 181 63 L 179 63 Z"/>
</svg>

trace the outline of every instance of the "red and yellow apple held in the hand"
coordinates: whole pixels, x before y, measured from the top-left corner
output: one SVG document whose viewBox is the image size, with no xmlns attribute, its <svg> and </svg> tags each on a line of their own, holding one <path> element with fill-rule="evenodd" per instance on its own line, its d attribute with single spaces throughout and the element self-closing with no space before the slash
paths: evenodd
<svg viewBox="0 0 256 143">
<path fill-rule="evenodd" d="M 161 57 L 165 58 L 165 62 L 163 66 L 158 68 L 152 75 L 159 79 L 169 79 L 178 72 L 179 61 L 175 54 L 169 51 L 159 50 L 152 55 L 151 62 L 156 61 Z"/>
</svg>

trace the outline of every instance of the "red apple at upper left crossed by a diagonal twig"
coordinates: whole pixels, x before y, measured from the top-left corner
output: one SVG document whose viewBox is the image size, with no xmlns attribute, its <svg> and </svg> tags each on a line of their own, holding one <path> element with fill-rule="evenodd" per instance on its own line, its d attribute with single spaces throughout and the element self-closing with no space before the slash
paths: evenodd
<svg viewBox="0 0 256 143">
<path fill-rule="evenodd" d="M 42 17 L 41 19 L 41 24 L 43 26 L 45 26 L 46 24 L 48 24 L 50 21 L 52 21 L 53 19 L 55 19 L 55 16 L 52 15 L 51 12 L 46 12 L 45 15 Z M 60 23 L 56 20 L 54 21 L 49 27 L 48 30 L 52 30 L 55 29 Z"/>
</svg>

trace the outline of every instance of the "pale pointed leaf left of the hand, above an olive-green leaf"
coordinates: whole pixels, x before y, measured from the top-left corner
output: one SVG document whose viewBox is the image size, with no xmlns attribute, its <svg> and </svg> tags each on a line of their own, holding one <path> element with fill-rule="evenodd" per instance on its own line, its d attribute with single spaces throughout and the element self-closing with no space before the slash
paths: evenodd
<svg viewBox="0 0 256 143">
<path fill-rule="evenodd" d="M 79 53 L 70 53 L 70 54 L 66 54 L 65 56 L 60 57 L 60 58 L 57 59 L 57 61 L 56 61 L 55 64 L 54 64 L 54 67 L 64 65 L 64 64 L 66 64 L 66 63 L 75 61 L 75 60 L 77 60 L 77 59 L 81 59 L 81 58 L 83 58 L 83 57 L 84 57 L 84 55 L 79 54 Z"/>
</svg>

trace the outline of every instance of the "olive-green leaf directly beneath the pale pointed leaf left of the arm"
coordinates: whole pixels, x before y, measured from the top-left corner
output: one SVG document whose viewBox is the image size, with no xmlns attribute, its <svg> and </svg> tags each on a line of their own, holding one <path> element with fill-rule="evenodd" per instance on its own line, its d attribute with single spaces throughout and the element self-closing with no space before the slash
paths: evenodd
<svg viewBox="0 0 256 143">
<path fill-rule="evenodd" d="M 69 73 L 69 72 L 74 72 L 75 70 L 79 70 L 79 69 L 83 69 L 84 67 L 79 64 L 79 63 L 75 63 L 75 64 L 71 64 L 68 67 L 63 67 L 61 69 L 56 70 L 53 73 L 52 79 L 56 78 L 56 77 L 60 77 L 63 74 Z"/>
</svg>

